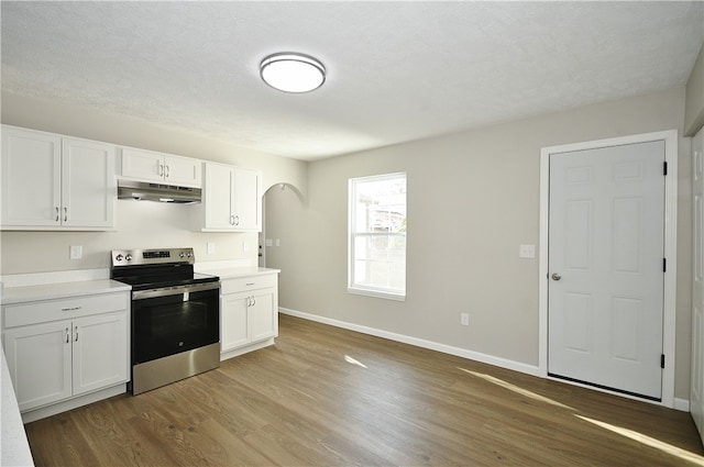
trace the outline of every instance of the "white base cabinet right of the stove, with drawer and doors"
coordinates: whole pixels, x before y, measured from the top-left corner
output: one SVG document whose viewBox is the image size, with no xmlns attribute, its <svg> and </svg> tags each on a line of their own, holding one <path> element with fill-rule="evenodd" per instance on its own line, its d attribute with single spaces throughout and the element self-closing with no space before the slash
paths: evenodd
<svg viewBox="0 0 704 467">
<path fill-rule="evenodd" d="M 221 279 L 221 358 L 230 358 L 278 335 L 278 283 L 275 273 Z"/>
</svg>

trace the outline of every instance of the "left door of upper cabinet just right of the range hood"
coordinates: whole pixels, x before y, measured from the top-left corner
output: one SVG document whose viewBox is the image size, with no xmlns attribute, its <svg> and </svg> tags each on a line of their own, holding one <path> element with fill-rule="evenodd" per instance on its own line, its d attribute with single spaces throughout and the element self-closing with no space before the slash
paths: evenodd
<svg viewBox="0 0 704 467">
<path fill-rule="evenodd" d="M 234 230 L 232 213 L 232 167 L 206 164 L 202 204 L 206 210 L 205 229 Z"/>
</svg>

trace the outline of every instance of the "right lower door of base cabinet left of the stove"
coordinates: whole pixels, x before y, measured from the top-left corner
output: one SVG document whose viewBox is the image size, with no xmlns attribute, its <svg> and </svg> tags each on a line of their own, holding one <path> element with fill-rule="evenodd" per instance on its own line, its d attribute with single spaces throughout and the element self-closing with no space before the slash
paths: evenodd
<svg viewBox="0 0 704 467">
<path fill-rule="evenodd" d="M 127 313 L 73 322 L 74 396 L 128 380 Z"/>
</svg>

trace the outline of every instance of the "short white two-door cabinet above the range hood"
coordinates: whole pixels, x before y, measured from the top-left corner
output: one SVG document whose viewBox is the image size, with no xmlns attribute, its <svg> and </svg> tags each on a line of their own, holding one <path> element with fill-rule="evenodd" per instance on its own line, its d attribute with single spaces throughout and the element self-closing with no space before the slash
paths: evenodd
<svg viewBox="0 0 704 467">
<path fill-rule="evenodd" d="M 200 188 L 201 162 L 151 151 L 123 148 L 121 176 L 140 181 L 156 181 L 179 187 Z"/>
</svg>

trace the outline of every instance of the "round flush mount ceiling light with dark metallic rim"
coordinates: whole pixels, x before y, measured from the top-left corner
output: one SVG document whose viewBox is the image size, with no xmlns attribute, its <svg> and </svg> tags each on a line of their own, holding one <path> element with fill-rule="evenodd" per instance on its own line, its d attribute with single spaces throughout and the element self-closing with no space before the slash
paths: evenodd
<svg viewBox="0 0 704 467">
<path fill-rule="evenodd" d="M 326 67 L 319 60 L 293 52 L 264 58 L 260 75 L 268 86 L 284 92 L 309 92 L 326 82 Z"/>
</svg>

